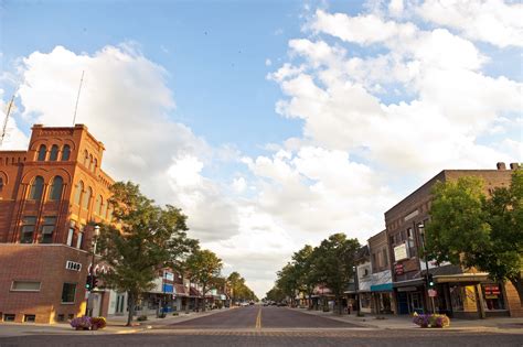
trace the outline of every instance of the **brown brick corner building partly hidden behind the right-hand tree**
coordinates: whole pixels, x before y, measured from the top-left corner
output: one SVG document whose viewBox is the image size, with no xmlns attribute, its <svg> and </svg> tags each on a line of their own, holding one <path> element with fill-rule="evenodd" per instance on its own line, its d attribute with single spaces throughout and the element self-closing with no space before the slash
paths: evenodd
<svg viewBox="0 0 523 347">
<path fill-rule="evenodd" d="M 511 164 L 511 169 L 516 169 Z M 453 317 L 523 316 L 519 296 L 510 282 L 494 283 L 488 273 L 463 271 L 451 264 L 437 264 L 420 254 L 424 227 L 429 220 L 430 189 L 438 181 L 478 176 L 485 182 L 485 193 L 509 186 L 512 171 L 503 163 L 498 170 L 444 170 L 385 213 L 394 296 L 398 314 L 414 312 L 446 313 Z M 425 273 L 434 275 L 434 300 L 427 294 Z"/>
</svg>

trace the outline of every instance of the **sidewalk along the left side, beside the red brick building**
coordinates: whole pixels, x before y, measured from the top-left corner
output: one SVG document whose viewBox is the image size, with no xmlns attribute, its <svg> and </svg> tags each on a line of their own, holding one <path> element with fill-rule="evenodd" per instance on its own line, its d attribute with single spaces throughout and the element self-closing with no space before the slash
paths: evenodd
<svg viewBox="0 0 523 347">
<path fill-rule="evenodd" d="M 24 335 L 106 335 L 106 334 L 132 334 L 151 329 L 153 327 L 181 323 L 199 317 L 204 317 L 233 308 L 213 310 L 206 312 L 180 313 L 178 316 L 168 315 L 166 318 L 148 316 L 145 322 L 132 321 L 132 326 L 126 326 L 127 316 L 107 317 L 107 326 L 99 330 L 75 330 L 68 323 L 33 324 L 33 323 L 0 323 L 0 337 L 24 336 Z"/>
</svg>

